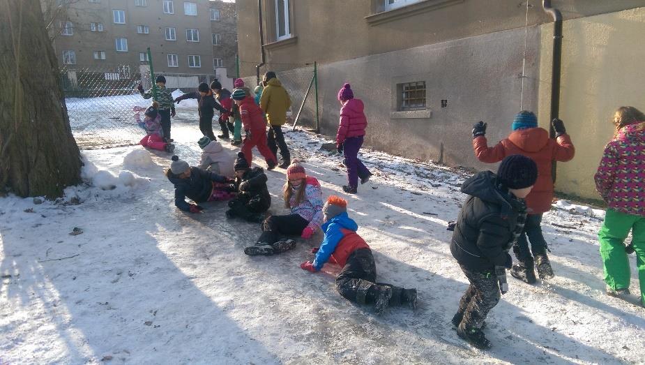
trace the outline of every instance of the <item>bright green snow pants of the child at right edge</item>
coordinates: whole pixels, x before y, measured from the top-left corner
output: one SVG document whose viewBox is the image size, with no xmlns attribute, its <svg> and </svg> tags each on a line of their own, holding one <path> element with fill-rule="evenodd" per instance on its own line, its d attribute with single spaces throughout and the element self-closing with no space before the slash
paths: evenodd
<svg viewBox="0 0 645 365">
<path fill-rule="evenodd" d="M 607 209 L 605 222 L 598 232 L 605 283 L 614 290 L 630 286 L 630 264 L 625 252 L 625 239 L 630 230 L 636 253 L 641 299 L 645 303 L 645 217 Z"/>
</svg>

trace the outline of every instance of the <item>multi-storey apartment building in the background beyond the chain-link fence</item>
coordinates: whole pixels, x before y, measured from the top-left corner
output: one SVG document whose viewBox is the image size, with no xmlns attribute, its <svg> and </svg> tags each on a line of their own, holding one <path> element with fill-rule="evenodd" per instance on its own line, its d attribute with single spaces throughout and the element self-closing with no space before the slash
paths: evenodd
<svg viewBox="0 0 645 365">
<path fill-rule="evenodd" d="M 138 66 L 149 61 L 150 47 L 155 73 L 213 74 L 215 67 L 229 67 L 229 75 L 234 75 L 235 11 L 228 10 L 232 3 L 77 0 L 66 6 L 60 27 L 52 28 L 61 66 Z"/>
</svg>

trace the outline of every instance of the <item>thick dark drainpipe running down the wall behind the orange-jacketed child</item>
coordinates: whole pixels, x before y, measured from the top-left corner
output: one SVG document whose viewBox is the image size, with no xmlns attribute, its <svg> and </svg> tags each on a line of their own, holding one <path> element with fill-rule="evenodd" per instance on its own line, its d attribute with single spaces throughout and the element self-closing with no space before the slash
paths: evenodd
<svg viewBox="0 0 645 365">
<path fill-rule="evenodd" d="M 549 137 L 555 138 L 556 132 L 551 121 L 560 114 L 560 68 L 562 59 L 562 13 L 551 6 L 551 0 L 542 0 L 542 8 L 553 17 L 553 63 L 551 73 L 551 117 L 549 119 Z M 553 182 L 556 181 L 556 161 L 552 163 Z"/>
</svg>

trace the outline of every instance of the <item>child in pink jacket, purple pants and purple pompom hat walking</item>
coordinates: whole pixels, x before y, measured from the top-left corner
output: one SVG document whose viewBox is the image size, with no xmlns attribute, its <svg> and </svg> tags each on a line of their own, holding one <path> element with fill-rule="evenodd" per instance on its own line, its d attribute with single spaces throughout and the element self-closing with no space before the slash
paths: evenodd
<svg viewBox="0 0 645 365">
<path fill-rule="evenodd" d="M 361 184 L 365 184 L 372 176 L 370 170 L 358 159 L 358 150 L 361 149 L 365 137 L 367 118 L 363 112 L 363 101 L 354 98 L 349 84 L 342 86 L 337 98 L 341 107 L 336 149 L 339 154 L 344 154 L 344 163 L 347 166 L 347 185 L 343 185 L 342 190 L 345 193 L 356 194 L 358 178 L 361 178 Z"/>
</svg>

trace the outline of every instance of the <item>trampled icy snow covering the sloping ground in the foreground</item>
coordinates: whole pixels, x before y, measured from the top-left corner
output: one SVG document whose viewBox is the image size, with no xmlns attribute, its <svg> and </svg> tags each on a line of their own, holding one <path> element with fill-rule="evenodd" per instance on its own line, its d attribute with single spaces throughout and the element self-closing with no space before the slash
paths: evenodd
<svg viewBox="0 0 645 365">
<path fill-rule="evenodd" d="M 195 164 L 199 130 L 190 119 L 173 121 L 172 131 L 176 154 Z M 279 256 L 244 255 L 259 225 L 227 220 L 224 202 L 203 204 L 203 214 L 176 209 L 164 176 L 169 154 L 96 149 L 83 151 L 86 182 L 64 198 L 0 199 L 0 363 L 643 363 L 645 309 L 636 295 L 604 294 L 602 211 L 554 204 L 543 228 L 556 277 L 531 286 L 508 276 L 510 291 L 487 319 L 493 348 L 475 350 L 450 327 L 466 278 L 446 231 L 469 173 L 365 150 L 374 176 L 345 195 L 342 158 L 320 149 L 328 141 L 285 135 L 324 195 L 349 200 L 379 281 L 418 288 L 416 311 L 375 317 L 338 295 L 339 267 L 300 269 L 319 233 Z M 264 166 L 257 152 L 254 161 Z M 271 212 L 283 214 L 284 170 L 267 175 Z M 74 228 L 83 232 L 70 235 Z M 630 265 L 639 293 L 634 255 Z"/>
</svg>

